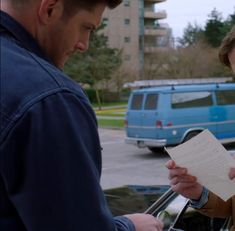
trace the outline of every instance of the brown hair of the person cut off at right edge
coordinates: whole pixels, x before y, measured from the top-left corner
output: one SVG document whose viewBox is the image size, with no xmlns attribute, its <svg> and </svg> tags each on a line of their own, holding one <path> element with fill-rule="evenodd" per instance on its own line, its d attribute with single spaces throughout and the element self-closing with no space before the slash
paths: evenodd
<svg viewBox="0 0 235 231">
<path fill-rule="evenodd" d="M 219 48 L 219 59 L 222 64 L 231 67 L 228 55 L 235 48 L 235 26 L 228 32 Z"/>
</svg>

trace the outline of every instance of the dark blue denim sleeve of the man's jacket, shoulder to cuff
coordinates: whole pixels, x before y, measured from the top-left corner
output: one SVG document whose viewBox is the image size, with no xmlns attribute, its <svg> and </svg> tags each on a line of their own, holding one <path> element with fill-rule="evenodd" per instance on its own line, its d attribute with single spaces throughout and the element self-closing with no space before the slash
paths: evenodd
<svg viewBox="0 0 235 231">
<path fill-rule="evenodd" d="M 107 208 L 96 119 L 83 99 L 41 99 L 19 116 L 2 150 L 7 193 L 27 231 L 134 231 Z"/>
</svg>

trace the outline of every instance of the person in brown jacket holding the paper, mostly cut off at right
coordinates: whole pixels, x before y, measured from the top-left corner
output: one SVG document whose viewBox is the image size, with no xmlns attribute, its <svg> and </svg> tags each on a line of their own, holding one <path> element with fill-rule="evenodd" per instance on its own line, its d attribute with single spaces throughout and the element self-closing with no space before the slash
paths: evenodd
<svg viewBox="0 0 235 231">
<path fill-rule="evenodd" d="M 235 73 L 235 27 L 224 38 L 219 49 L 219 59 Z M 177 166 L 173 160 L 170 160 L 166 163 L 166 167 L 169 169 L 168 177 L 173 191 L 191 199 L 191 206 L 207 216 L 232 217 L 231 231 L 235 231 L 235 196 L 224 202 L 200 185 L 196 177 L 189 175 L 183 166 Z M 235 179 L 235 166 L 230 169 L 228 178 L 231 179 L 231 184 L 235 184 L 232 181 Z"/>
</svg>

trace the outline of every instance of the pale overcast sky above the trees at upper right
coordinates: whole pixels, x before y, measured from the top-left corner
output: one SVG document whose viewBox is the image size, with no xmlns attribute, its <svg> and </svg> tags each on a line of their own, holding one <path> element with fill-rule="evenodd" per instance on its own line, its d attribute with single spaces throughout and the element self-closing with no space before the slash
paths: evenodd
<svg viewBox="0 0 235 231">
<path fill-rule="evenodd" d="M 173 30 L 174 37 L 182 37 L 183 30 L 190 22 L 204 27 L 208 15 L 216 8 L 222 13 L 224 19 L 235 11 L 235 0 L 166 0 L 156 4 L 156 9 L 166 10 L 168 23 Z"/>
</svg>

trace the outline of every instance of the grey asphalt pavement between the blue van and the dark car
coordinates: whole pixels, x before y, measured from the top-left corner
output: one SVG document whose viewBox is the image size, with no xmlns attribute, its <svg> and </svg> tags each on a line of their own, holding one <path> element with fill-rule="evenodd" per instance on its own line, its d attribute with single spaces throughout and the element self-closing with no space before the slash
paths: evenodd
<svg viewBox="0 0 235 231">
<path fill-rule="evenodd" d="M 170 159 L 165 153 L 152 153 L 125 144 L 124 130 L 99 129 L 103 147 L 103 189 L 123 185 L 168 185 L 165 163 Z M 234 146 L 228 147 L 235 154 Z M 235 155 L 234 155 L 235 156 Z"/>
</svg>

